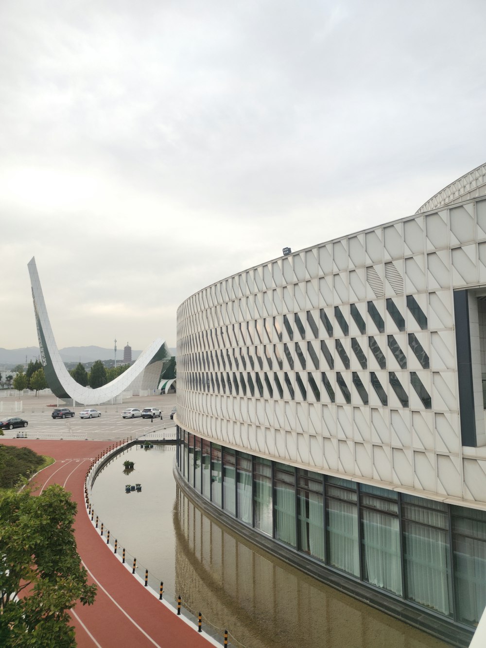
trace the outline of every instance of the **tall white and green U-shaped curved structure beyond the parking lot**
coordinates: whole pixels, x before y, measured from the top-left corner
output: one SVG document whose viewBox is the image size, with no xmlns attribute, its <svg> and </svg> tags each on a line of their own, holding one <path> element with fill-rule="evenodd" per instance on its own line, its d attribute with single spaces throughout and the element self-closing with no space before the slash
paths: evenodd
<svg viewBox="0 0 486 648">
<path fill-rule="evenodd" d="M 129 369 L 108 384 L 91 389 L 76 382 L 67 371 L 54 340 L 34 257 L 27 266 L 42 364 L 47 384 L 54 395 L 60 399 L 73 399 L 82 405 L 95 405 L 115 399 L 123 391 L 157 388 L 163 361 L 170 358 L 167 345 L 161 338 L 154 340 Z"/>
</svg>

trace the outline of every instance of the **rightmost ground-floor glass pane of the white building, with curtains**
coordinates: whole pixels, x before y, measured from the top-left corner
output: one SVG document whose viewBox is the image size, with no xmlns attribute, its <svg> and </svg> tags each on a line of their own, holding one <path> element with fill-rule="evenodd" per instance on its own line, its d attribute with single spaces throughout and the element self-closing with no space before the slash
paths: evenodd
<svg viewBox="0 0 486 648">
<path fill-rule="evenodd" d="M 486 606 L 486 511 L 450 509 L 457 614 L 475 626 Z"/>
</svg>

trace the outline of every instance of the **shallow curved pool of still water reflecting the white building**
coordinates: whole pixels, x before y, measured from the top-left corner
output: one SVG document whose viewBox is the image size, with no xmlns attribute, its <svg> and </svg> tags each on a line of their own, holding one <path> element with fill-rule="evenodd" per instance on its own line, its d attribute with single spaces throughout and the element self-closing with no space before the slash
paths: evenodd
<svg viewBox="0 0 486 648">
<path fill-rule="evenodd" d="M 232 643 L 251 648 L 439 648 L 439 642 L 253 548 L 203 514 L 172 476 L 174 446 L 122 454 L 95 481 L 100 521 Z M 126 494 L 123 461 L 140 493 Z"/>
</svg>

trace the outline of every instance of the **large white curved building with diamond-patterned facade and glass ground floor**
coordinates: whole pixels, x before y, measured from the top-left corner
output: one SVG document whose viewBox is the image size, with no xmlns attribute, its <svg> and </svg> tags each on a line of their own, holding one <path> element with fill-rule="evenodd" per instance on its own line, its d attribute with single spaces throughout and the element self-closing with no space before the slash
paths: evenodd
<svg viewBox="0 0 486 648">
<path fill-rule="evenodd" d="M 483 165 L 178 309 L 183 487 L 454 645 L 486 605 L 485 197 Z"/>
</svg>

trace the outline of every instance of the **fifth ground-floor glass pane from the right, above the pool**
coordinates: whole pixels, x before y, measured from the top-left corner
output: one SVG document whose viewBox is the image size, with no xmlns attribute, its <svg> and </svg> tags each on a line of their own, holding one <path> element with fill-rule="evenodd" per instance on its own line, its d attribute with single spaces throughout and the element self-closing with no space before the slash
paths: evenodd
<svg viewBox="0 0 486 648">
<path fill-rule="evenodd" d="M 297 469 L 298 549 L 325 561 L 322 476 Z"/>
</svg>

